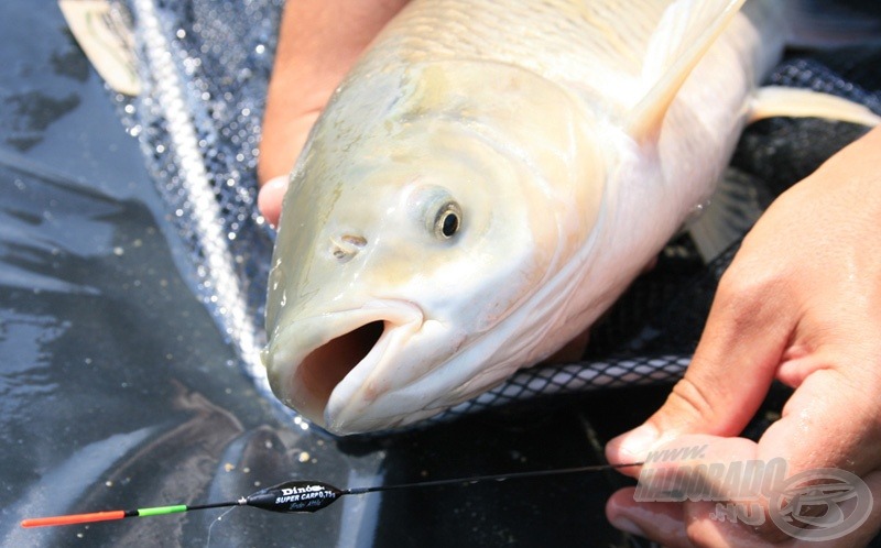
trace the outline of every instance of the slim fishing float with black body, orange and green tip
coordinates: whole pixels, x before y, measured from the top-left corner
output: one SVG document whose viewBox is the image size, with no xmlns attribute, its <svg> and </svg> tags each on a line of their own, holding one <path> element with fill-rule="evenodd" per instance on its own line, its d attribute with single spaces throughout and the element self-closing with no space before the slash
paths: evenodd
<svg viewBox="0 0 881 548">
<path fill-rule="evenodd" d="M 230 506 L 251 506 L 269 512 L 300 513 L 317 512 L 326 508 L 334 501 L 345 495 L 362 495 L 380 491 L 394 491 L 404 489 L 438 487 L 444 485 L 468 485 L 487 481 L 507 481 L 521 478 L 543 478 L 548 475 L 574 474 L 579 472 L 599 472 L 619 468 L 642 465 L 642 462 L 623 464 L 594 464 L 589 467 L 561 468 L 553 470 L 533 470 L 529 472 L 513 472 L 507 474 L 474 475 L 470 478 L 455 478 L 449 480 L 434 480 L 415 483 L 400 483 L 395 485 L 374 485 L 369 487 L 339 489 L 328 483 L 309 480 L 294 480 L 261 489 L 248 496 L 235 501 L 216 502 L 207 504 L 175 504 L 171 506 L 154 506 L 134 509 L 113 509 L 93 512 L 89 514 L 68 514 L 52 517 L 34 517 L 21 522 L 22 527 L 48 527 L 55 525 L 75 525 L 94 522 L 110 522 L 127 517 L 149 517 L 167 514 L 180 514 L 196 509 L 225 508 Z"/>
</svg>

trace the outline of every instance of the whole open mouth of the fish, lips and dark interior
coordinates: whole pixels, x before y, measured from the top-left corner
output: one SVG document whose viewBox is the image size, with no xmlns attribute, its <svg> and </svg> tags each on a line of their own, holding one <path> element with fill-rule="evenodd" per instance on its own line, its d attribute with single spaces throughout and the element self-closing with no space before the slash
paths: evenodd
<svg viewBox="0 0 881 548">
<path fill-rule="evenodd" d="M 422 324 L 417 306 L 395 299 L 294 320 L 268 349 L 272 390 L 311 421 L 350 430 L 371 402 L 406 382 L 391 369 Z"/>
</svg>

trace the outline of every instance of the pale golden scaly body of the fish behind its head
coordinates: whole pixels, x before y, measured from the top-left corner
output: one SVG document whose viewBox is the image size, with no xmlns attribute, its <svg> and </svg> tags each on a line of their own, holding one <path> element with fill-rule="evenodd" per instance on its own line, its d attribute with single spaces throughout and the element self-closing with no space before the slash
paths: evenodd
<svg viewBox="0 0 881 548">
<path fill-rule="evenodd" d="M 620 10 L 608 3 L 413 2 L 378 39 L 361 68 L 379 69 L 395 57 L 482 59 L 591 89 L 596 97 L 631 97 L 628 89 L 639 80 L 651 29 L 663 10 L 659 2 L 628 2 L 644 17 L 621 26 L 616 24 Z"/>
</svg>

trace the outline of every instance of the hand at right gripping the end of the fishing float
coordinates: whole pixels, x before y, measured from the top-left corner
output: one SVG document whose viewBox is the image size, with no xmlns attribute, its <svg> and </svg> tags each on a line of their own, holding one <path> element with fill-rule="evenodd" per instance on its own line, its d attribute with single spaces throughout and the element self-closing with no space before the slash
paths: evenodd
<svg viewBox="0 0 881 548">
<path fill-rule="evenodd" d="M 703 458 L 688 464 L 781 457 L 786 478 L 819 468 L 847 470 L 862 478 L 875 503 L 868 520 L 834 545 L 871 539 L 881 527 L 879 152 L 881 128 L 769 208 L 719 284 L 684 379 L 644 425 L 609 442 L 610 462 L 706 445 Z M 781 419 L 758 443 L 737 438 L 774 379 L 795 388 Z M 760 502 L 766 511 L 768 500 Z M 714 520 L 715 507 L 637 503 L 629 489 L 612 495 L 607 516 L 621 529 L 671 547 L 801 546 L 768 520 L 757 529 Z"/>
</svg>

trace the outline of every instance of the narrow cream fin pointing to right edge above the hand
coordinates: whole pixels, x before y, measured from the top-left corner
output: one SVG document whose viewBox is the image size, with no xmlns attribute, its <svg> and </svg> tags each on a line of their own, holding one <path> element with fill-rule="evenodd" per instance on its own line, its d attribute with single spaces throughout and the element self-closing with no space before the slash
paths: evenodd
<svg viewBox="0 0 881 548">
<path fill-rule="evenodd" d="M 870 127 L 881 123 L 881 117 L 863 105 L 813 89 L 764 87 L 755 92 L 750 107 L 750 122 L 774 117 L 811 117 Z"/>
</svg>

